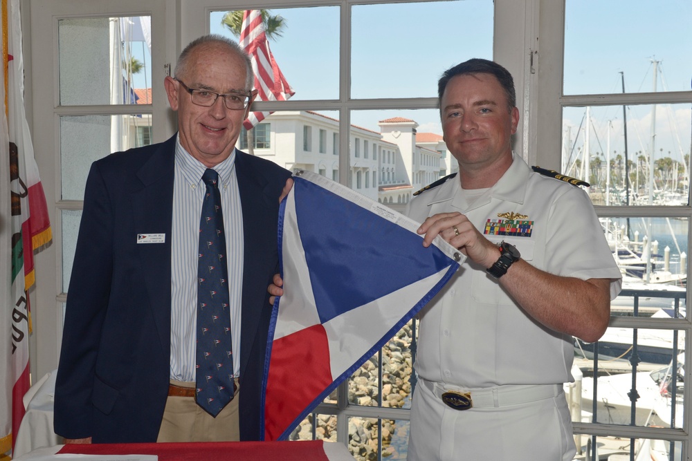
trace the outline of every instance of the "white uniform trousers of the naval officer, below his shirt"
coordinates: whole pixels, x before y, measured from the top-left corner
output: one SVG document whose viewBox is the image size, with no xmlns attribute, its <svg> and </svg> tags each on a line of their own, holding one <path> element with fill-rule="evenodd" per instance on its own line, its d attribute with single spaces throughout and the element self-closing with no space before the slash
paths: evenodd
<svg viewBox="0 0 692 461">
<path fill-rule="evenodd" d="M 503 402 L 507 388 L 511 390 L 504 393 Z M 516 403 L 522 401 L 522 388 L 528 397 Z M 572 419 L 562 385 L 494 389 L 477 390 L 478 405 L 459 411 L 442 402 L 441 393 L 447 389 L 419 378 L 411 408 L 408 461 L 574 459 Z M 470 391 L 473 399 L 474 390 Z"/>
</svg>

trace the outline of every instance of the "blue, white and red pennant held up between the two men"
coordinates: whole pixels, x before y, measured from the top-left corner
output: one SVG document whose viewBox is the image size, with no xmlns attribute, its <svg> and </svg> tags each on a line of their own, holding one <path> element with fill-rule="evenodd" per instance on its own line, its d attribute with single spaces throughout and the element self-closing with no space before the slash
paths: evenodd
<svg viewBox="0 0 692 461">
<path fill-rule="evenodd" d="M 279 216 L 284 295 L 264 365 L 264 440 L 284 440 L 447 283 L 464 256 L 425 248 L 406 216 L 316 173 L 293 177 Z"/>
</svg>

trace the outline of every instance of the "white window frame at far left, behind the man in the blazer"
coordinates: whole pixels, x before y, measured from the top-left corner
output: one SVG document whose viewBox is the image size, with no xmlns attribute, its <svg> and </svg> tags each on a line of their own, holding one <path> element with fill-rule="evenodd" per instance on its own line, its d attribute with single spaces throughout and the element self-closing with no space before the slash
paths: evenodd
<svg viewBox="0 0 692 461">
<path fill-rule="evenodd" d="M 51 218 L 53 242 L 35 255 L 36 285 L 32 310 L 36 319 L 30 335 L 30 372 L 39 379 L 57 368 L 62 346 L 62 321 L 67 294 L 62 289 L 62 213 L 81 211 L 81 200 L 62 200 L 60 167 L 60 117 L 70 115 L 129 115 L 132 106 L 61 106 L 58 84 L 60 19 L 132 17 L 152 19 L 152 103 L 137 104 L 136 113 L 152 117 L 152 142 L 162 142 L 175 132 L 174 117 L 167 108 L 163 78 L 175 60 L 175 31 L 167 28 L 168 0 L 30 0 L 22 2 L 24 90 L 27 122 Z M 46 46 L 47 45 L 47 46 Z M 173 56 L 173 58 L 172 58 Z M 41 127 L 37 129 L 37 127 Z"/>
</svg>

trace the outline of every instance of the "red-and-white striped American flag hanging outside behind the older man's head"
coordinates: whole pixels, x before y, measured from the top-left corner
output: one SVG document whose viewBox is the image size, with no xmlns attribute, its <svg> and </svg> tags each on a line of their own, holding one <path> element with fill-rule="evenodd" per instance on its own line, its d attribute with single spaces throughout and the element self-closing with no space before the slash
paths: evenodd
<svg viewBox="0 0 692 461">
<path fill-rule="evenodd" d="M 240 29 L 240 46 L 253 62 L 258 101 L 285 101 L 295 94 L 269 50 L 260 10 L 245 11 Z M 270 112 L 251 112 L 243 126 L 246 130 L 252 129 L 269 114 Z"/>
</svg>

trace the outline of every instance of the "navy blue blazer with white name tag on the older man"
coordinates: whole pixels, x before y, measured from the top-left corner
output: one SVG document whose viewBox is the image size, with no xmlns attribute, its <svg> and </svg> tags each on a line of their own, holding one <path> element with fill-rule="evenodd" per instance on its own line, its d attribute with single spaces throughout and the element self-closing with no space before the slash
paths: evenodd
<svg viewBox="0 0 692 461">
<path fill-rule="evenodd" d="M 55 432 L 94 443 L 156 442 L 170 379 L 176 137 L 94 162 L 70 280 Z M 260 385 L 277 272 L 278 198 L 290 172 L 237 152 L 243 211 L 241 440 L 260 439 Z M 138 245 L 137 234 L 165 234 Z"/>
</svg>

